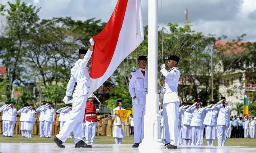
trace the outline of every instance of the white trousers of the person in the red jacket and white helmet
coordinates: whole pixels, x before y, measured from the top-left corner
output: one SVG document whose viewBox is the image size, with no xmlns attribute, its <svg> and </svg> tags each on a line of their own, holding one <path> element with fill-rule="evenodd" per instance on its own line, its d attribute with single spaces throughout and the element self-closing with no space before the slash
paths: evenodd
<svg viewBox="0 0 256 153">
<path fill-rule="evenodd" d="M 86 130 L 86 141 L 85 143 L 94 143 L 95 140 L 95 134 L 96 134 L 96 129 L 97 129 L 97 122 L 92 122 L 92 121 L 85 121 L 85 130 Z M 82 128 L 82 127 L 81 127 Z"/>
</svg>

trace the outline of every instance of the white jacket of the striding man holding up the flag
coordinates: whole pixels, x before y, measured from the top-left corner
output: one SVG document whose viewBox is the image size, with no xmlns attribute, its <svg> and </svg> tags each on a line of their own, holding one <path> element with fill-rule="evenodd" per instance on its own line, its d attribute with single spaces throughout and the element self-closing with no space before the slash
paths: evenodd
<svg viewBox="0 0 256 153">
<path fill-rule="evenodd" d="M 71 77 L 67 84 L 66 96 L 71 97 L 75 82 L 77 85 L 75 87 L 73 97 L 88 94 L 91 85 L 91 78 L 87 68 L 87 63 L 90 60 L 91 55 L 92 51 L 88 49 L 84 58 L 76 61 L 75 66 L 71 69 Z"/>
</svg>

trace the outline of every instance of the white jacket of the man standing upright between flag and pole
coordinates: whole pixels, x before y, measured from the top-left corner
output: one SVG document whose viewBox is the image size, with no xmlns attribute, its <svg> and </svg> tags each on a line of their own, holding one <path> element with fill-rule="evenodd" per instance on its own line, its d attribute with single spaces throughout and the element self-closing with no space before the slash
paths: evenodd
<svg viewBox="0 0 256 153">
<path fill-rule="evenodd" d="M 139 68 L 137 71 L 131 72 L 129 78 L 129 92 L 131 98 L 134 96 L 137 97 L 138 104 L 145 105 L 147 94 L 147 70 L 145 70 L 145 77 L 143 76 L 141 70 L 143 69 Z"/>
</svg>

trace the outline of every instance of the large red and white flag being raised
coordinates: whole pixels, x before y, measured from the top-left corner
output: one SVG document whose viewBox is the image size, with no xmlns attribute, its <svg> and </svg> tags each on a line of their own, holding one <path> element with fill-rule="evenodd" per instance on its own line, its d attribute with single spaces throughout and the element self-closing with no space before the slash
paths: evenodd
<svg viewBox="0 0 256 153">
<path fill-rule="evenodd" d="M 118 0 L 104 29 L 92 38 L 89 94 L 97 90 L 144 40 L 141 0 Z"/>
</svg>

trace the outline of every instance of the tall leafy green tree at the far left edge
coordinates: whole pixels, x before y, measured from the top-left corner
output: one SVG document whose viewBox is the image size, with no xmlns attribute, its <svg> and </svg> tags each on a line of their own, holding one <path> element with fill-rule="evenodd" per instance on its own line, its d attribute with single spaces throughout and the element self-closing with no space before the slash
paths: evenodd
<svg viewBox="0 0 256 153">
<path fill-rule="evenodd" d="M 0 37 L 0 58 L 7 67 L 11 89 L 13 82 L 22 81 L 21 73 L 25 71 L 23 65 L 25 41 L 35 23 L 39 21 L 40 10 L 24 2 L 21 3 L 20 0 L 15 2 L 8 2 L 9 9 L 5 9 L 5 5 L 0 7 L 1 15 L 5 15 L 7 19 L 6 32 Z"/>
</svg>

